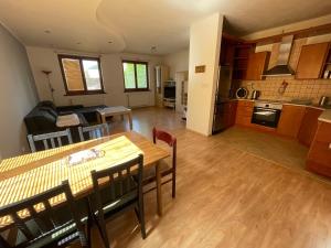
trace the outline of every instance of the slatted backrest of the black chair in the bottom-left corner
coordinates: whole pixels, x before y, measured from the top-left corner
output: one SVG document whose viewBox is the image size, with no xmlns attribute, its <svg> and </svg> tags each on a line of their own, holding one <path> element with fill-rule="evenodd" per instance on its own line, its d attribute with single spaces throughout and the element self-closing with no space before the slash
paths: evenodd
<svg viewBox="0 0 331 248">
<path fill-rule="evenodd" d="M 39 195 L 0 208 L 0 217 L 10 217 L 13 222 L 12 225 L 24 236 L 24 240 L 18 245 L 19 247 L 33 247 L 41 238 L 51 237 L 60 230 L 60 227 L 64 226 L 63 219 L 58 220 L 58 216 L 54 214 L 54 209 L 60 206 L 52 206 L 50 201 L 62 195 L 65 196 L 65 201 L 61 206 L 67 204 L 72 217 L 66 224 L 76 225 L 81 244 L 87 246 L 84 227 L 77 214 L 68 181 L 64 181 L 61 185 Z M 20 216 L 20 213 L 24 213 L 25 217 Z M 33 225 L 31 222 L 33 222 Z M 4 247 L 15 247 L 15 245 L 6 244 L 2 237 L 0 244 Z"/>
</svg>

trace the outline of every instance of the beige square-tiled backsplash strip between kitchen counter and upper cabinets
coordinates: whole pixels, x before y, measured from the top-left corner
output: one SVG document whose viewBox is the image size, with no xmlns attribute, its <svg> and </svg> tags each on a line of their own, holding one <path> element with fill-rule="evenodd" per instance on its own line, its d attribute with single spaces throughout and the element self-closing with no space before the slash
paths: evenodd
<svg viewBox="0 0 331 248">
<path fill-rule="evenodd" d="M 278 89 L 284 80 L 288 86 L 284 94 L 279 94 Z M 317 104 L 321 96 L 331 97 L 331 79 L 297 80 L 290 77 L 269 77 L 265 80 L 243 80 L 241 86 L 249 90 L 249 97 L 254 89 L 260 90 L 260 99 L 310 99 Z"/>
</svg>

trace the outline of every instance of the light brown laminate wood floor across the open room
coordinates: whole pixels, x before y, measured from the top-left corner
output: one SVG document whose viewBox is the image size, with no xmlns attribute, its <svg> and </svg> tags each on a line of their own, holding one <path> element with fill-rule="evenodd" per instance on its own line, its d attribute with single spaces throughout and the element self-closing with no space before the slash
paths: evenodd
<svg viewBox="0 0 331 248">
<path fill-rule="evenodd" d="M 113 132 L 124 126 L 113 122 Z M 178 138 L 177 198 L 163 186 L 158 217 L 156 192 L 145 195 L 145 240 L 135 213 L 109 222 L 113 247 L 331 247 L 331 186 L 300 172 L 306 148 L 241 128 L 206 138 L 172 110 L 134 110 L 135 131 L 151 138 L 153 126 Z M 93 247 L 103 247 L 96 228 Z"/>
</svg>

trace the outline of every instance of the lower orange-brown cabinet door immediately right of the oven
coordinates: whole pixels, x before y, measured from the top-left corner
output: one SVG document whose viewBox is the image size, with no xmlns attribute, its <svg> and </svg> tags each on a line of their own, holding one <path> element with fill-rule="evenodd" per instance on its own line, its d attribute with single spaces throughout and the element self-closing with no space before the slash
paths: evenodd
<svg viewBox="0 0 331 248">
<path fill-rule="evenodd" d="M 305 116 L 305 106 L 284 105 L 277 132 L 282 136 L 297 138 Z"/>
</svg>

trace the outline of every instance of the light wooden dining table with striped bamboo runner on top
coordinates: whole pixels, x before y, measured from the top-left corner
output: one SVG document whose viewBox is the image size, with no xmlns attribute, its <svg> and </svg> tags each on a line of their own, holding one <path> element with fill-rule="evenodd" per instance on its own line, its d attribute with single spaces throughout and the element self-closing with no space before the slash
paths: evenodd
<svg viewBox="0 0 331 248">
<path fill-rule="evenodd" d="M 70 158 L 73 154 L 96 150 L 103 151 L 102 155 L 93 160 L 84 160 L 81 163 L 71 163 Z M 65 180 L 68 180 L 76 200 L 87 197 L 93 194 L 90 171 L 115 166 L 138 154 L 143 154 L 143 169 L 156 168 L 157 213 L 161 216 L 160 162 L 168 158 L 170 152 L 135 131 L 2 160 L 0 163 L 0 207 L 40 194 L 60 185 Z M 52 204 L 56 205 L 61 204 L 63 200 L 57 197 L 52 201 Z M 24 213 L 21 214 L 20 217 L 24 217 Z M 0 230 L 11 224 L 10 217 L 1 217 Z"/>
</svg>

